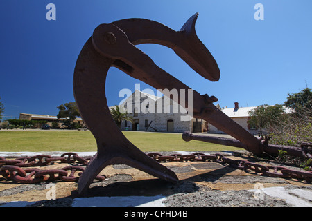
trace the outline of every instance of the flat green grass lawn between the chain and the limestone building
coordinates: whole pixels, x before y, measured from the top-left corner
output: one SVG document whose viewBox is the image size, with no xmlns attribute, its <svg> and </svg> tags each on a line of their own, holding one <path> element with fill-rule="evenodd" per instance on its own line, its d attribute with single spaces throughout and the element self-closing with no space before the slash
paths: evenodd
<svg viewBox="0 0 312 221">
<path fill-rule="evenodd" d="M 184 142 L 181 134 L 123 131 L 141 151 L 234 151 L 241 148 L 192 140 Z M 0 131 L 0 151 L 96 151 L 90 131 Z"/>
</svg>

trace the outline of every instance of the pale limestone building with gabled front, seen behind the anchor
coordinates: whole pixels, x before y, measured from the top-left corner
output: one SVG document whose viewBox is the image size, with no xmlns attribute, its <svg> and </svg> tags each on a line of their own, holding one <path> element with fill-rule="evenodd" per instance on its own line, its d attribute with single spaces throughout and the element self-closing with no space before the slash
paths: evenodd
<svg viewBox="0 0 312 221">
<path fill-rule="evenodd" d="M 187 110 L 165 96 L 157 97 L 135 90 L 119 108 L 127 111 L 133 119 L 133 122 L 122 122 L 121 130 L 175 133 L 207 131 L 207 122 L 190 116 L 189 120 L 185 120 L 183 117 L 188 116 Z"/>
</svg>

